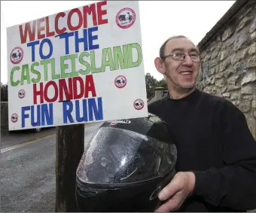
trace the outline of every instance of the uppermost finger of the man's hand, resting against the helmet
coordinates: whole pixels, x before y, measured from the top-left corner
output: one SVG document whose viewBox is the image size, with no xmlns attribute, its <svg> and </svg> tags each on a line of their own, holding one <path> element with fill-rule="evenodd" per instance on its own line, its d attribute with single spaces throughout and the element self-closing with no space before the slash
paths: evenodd
<svg viewBox="0 0 256 213">
<path fill-rule="evenodd" d="M 179 190 L 180 190 L 180 184 L 179 184 L 178 178 L 174 177 L 172 181 L 170 181 L 169 184 L 166 185 L 166 187 L 164 187 L 163 190 L 160 191 L 160 193 L 158 194 L 158 198 L 160 200 L 169 199 Z"/>
</svg>

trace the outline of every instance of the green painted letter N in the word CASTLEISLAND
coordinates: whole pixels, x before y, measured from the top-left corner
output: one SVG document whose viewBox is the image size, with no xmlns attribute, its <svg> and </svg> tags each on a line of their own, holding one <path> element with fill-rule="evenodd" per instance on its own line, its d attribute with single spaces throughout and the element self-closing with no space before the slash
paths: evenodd
<svg viewBox="0 0 256 213">
<path fill-rule="evenodd" d="M 114 47 L 114 70 L 127 68 L 127 44 L 123 45 L 123 53 L 120 46 Z"/>
</svg>

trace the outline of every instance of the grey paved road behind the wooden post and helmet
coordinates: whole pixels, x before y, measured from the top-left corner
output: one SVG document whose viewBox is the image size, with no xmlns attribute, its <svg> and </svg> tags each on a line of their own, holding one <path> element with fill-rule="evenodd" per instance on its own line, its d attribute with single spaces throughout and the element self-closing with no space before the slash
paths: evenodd
<svg viewBox="0 0 256 213">
<path fill-rule="evenodd" d="M 101 123 L 85 128 L 85 142 Z M 1 212 L 55 211 L 55 135 L 1 151 Z"/>
</svg>

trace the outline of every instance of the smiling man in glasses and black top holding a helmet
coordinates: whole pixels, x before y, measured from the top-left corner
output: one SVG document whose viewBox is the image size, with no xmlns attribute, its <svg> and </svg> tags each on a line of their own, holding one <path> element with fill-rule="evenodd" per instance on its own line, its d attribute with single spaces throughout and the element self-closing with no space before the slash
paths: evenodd
<svg viewBox="0 0 256 213">
<path fill-rule="evenodd" d="M 169 38 L 155 59 L 169 95 L 148 105 L 175 137 L 177 174 L 159 193 L 157 211 L 247 211 L 256 208 L 256 141 L 245 116 L 226 99 L 195 87 L 198 48 Z"/>
</svg>

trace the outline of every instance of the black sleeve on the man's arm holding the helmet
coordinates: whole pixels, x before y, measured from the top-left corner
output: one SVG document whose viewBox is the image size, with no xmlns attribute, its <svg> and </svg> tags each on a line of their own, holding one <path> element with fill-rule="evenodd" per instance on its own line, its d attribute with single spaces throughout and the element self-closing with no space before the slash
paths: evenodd
<svg viewBox="0 0 256 213">
<path fill-rule="evenodd" d="M 256 208 L 256 141 L 238 108 L 230 103 L 219 113 L 224 167 L 193 171 L 194 195 L 215 206 L 252 210 Z"/>
</svg>

